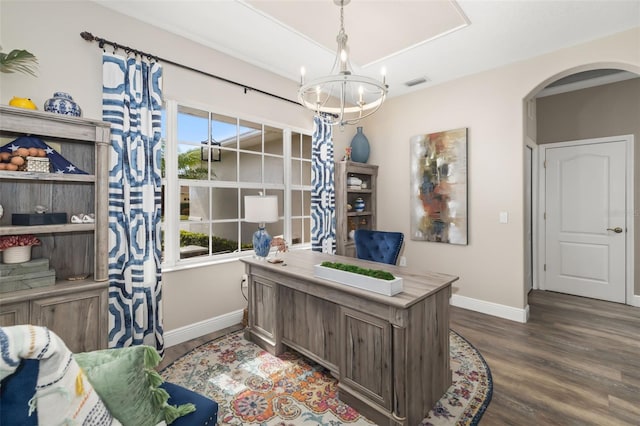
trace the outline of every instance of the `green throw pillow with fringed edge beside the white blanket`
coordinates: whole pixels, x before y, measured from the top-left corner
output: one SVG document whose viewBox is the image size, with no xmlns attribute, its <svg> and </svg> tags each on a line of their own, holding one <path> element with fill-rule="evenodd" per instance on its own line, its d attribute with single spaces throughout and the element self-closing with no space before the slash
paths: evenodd
<svg viewBox="0 0 640 426">
<path fill-rule="evenodd" d="M 74 355 L 109 412 L 124 426 L 154 426 L 195 411 L 193 404 L 171 406 L 154 370 L 160 355 L 151 346 L 104 349 Z"/>
</svg>

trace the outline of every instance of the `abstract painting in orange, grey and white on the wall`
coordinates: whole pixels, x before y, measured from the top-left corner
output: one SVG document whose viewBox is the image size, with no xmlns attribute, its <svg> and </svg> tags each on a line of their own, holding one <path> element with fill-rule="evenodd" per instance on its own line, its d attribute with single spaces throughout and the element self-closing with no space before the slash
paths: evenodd
<svg viewBox="0 0 640 426">
<path fill-rule="evenodd" d="M 411 138 L 411 239 L 467 244 L 467 129 Z"/>
</svg>

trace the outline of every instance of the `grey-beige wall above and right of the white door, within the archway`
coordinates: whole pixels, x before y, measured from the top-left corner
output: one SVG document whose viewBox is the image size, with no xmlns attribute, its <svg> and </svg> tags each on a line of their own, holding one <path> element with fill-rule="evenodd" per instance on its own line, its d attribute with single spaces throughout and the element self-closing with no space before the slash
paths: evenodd
<svg viewBox="0 0 640 426">
<path fill-rule="evenodd" d="M 640 78 L 537 100 L 539 144 L 634 136 L 635 294 L 640 294 Z"/>
</svg>

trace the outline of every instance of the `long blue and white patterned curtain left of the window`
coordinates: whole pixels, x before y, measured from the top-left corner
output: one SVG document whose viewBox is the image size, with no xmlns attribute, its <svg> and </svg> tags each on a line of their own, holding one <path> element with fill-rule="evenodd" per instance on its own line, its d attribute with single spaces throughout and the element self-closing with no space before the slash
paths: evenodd
<svg viewBox="0 0 640 426">
<path fill-rule="evenodd" d="M 102 116 L 111 123 L 109 347 L 162 353 L 162 67 L 104 53 L 102 71 Z"/>
</svg>

